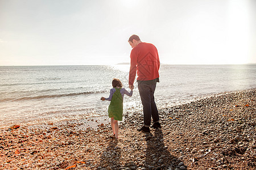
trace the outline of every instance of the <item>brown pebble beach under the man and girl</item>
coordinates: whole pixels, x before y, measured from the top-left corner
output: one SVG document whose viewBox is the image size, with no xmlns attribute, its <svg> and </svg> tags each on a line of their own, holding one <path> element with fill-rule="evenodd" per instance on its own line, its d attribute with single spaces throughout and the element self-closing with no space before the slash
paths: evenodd
<svg viewBox="0 0 256 170">
<path fill-rule="evenodd" d="M 253 89 L 161 109 L 150 133 L 126 111 L 119 139 L 108 119 L 5 128 L 0 169 L 256 169 L 255 109 Z"/>
</svg>

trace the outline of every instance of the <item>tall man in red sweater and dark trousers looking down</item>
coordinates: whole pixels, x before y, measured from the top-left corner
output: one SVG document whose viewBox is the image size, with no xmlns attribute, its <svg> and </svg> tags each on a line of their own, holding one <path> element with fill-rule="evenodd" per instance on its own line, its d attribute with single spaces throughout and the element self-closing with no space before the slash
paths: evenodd
<svg viewBox="0 0 256 170">
<path fill-rule="evenodd" d="M 138 131 L 149 132 L 151 116 L 154 122 L 152 128 L 161 128 L 154 97 L 156 82 L 159 82 L 158 50 L 153 44 L 142 42 L 137 35 L 132 35 L 128 41 L 133 48 L 130 55 L 129 88 L 133 88 L 137 72 L 139 95 L 143 105 L 144 125 Z"/>
</svg>

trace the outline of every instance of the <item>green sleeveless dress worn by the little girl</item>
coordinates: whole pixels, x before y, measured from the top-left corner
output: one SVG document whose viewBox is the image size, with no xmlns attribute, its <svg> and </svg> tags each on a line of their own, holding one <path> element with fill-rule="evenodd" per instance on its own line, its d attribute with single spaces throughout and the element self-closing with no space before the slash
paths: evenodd
<svg viewBox="0 0 256 170">
<path fill-rule="evenodd" d="M 109 118 L 114 117 L 114 120 L 122 121 L 123 118 L 123 97 L 120 92 L 121 88 L 115 88 L 109 105 Z"/>
</svg>

